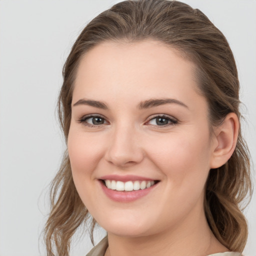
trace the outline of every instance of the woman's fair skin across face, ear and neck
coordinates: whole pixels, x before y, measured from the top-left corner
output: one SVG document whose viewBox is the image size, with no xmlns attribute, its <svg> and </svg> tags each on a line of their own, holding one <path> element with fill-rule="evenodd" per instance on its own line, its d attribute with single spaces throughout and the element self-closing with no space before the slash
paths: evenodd
<svg viewBox="0 0 256 256">
<path fill-rule="evenodd" d="M 210 133 L 194 68 L 153 40 L 103 42 L 79 63 L 67 146 L 79 196 L 107 231 L 105 255 L 228 251 L 210 231 L 203 196 L 209 169 L 234 150 L 238 120 L 230 113 Z M 137 196 L 106 188 L 106 175 L 154 184 Z"/>
</svg>

